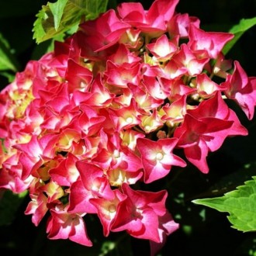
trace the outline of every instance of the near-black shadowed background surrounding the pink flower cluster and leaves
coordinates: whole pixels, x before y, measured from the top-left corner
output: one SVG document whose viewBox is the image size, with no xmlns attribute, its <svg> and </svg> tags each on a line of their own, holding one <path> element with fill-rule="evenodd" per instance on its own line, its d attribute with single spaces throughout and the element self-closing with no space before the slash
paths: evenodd
<svg viewBox="0 0 256 256">
<path fill-rule="evenodd" d="M 109 6 L 118 2 L 109 1 Z M 152 1 L 140 1 L 148 9 Z M 47 4 L 43 0 L 8 0 L 0 2 L 0 33 L 9 41 L 13 54 L 19 62 L 22 71 L 26 62 L 36 59 L 43 54 L 47 42 L 36 45 L 33 40 L 33 22 L 41 5 Z M 201 28 L 207 31 L 227 32 L 231 26 L 242 18 L 256 16 L 256 1 L 254 0 L 180 0 L 176 9 L 178 12 L 188 12 L 190 16 L 197 16 L 201 20 Z M 227 54 L 227 58 L 240 61 L 244 70 L 250 76 L 256 75 L 256 27 L 249 29 L 234 48 Z M 0 56 L 1 57 L 1 56 Z M 1 88 L 8 85 L 6 78 L 0 77 Z M 168 241 L 160 255 L 171 256 L 231 256 L 253 255 L 256 251 L 256 234 L 244 234 L 230 227 L 227 214 L 213 209 L 195 206 L 192 199 L 207 197 L 212 186 L 217 187 L 217 195 L 223 195 L 241 185 L 243 179 L 256 174 L 254 166 L 244 171 L 244 164 L 254 163 L 256 160 L 255 119 L 248 122 L 243 113 L 237 109 L 241 122 L 247 126 L 249 136 L 228 140 L 215 154 L 209 156 L 209 175 L 202 175 L 198 170 L 189 166 L 185 170 L 173 169 L 168 178 L 168 209 L 181 227 L 168 237 Z M 178 173 L 179 172 L 179 173 Z M 177 175 L 178 174 L 178 175 Z M 237 176 L 239 176 L 237 178 Z M 230 184 L 227 186 L 227 184 Z M 166 182 L 155 182 L 150 189 L 160 190 L 166 187 Z M 221 190 L 224 188 L 223 190 Z M 225 189 L 226 188 L 226 189 Z M 150 190 L 147 187 L 147 190 Z M 25 216 L 24 210 L 29 199 L 26 198 L 19 206 L 16 218 L 9 225 L 0 227 L 0 255 L 10 253 L 28 256 L 39 255 L 99 255 L 99 246 L 104 240 L 118 240 L 124 236 L 119 244 L 119 251 L 113 250 L 106 255 L 149 255 L 148 243 L 144 240 L 126 237 L 125 234 L 111 234 L 102 237 L 99 221 L 86 216 L 88 234 L 95 237 L 92 248 L 82 247 L 69 240 L 47 240 L 45 223 L 34 227 L 31 216 Z M 1 201 L 0 201 L 1 204 Z M 250 252 L 251 250 L 251 252 Z M 104 254 L 102 254 L 104 255 Z"/>
</svg>

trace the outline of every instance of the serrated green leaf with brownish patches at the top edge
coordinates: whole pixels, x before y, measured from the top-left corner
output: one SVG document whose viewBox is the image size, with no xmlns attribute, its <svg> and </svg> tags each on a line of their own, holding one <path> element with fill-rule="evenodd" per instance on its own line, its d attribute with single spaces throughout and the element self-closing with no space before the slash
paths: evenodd
<svg viewBox="0 0 256 256">
<path fill-rule="evenodd" d="M 78 27 L 81 19 L 95 19 L 106 11 L 108 0 L 57 0 L 43 5 L 33 24 L 36 43 Z"/>
</svg>

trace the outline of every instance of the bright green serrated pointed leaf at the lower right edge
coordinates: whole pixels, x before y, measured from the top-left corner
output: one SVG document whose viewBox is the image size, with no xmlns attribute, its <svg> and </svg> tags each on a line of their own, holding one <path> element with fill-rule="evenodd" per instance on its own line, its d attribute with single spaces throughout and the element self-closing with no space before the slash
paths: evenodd
<svg viewBox="0 0 256 256">
<path fill-rule="evenodd" d="M 212 199 L 195 199 L 192 202 L 227 212 L 230 223 L 240 231 L 256 231 L 256 176 L 236 190 Z"/>
</svg>

